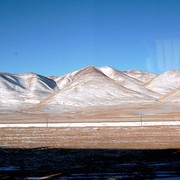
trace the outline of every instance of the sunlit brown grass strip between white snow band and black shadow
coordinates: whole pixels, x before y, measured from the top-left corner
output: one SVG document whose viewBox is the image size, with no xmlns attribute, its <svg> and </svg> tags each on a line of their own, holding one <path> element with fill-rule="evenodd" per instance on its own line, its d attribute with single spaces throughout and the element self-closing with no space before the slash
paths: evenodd
<svg viewBox="0 0 180 180">
<path fill-rule="evenodd" d="M 1 128 L 0 146 L 10 148 L 180 148 L 180 126 Z"/>
</svg>

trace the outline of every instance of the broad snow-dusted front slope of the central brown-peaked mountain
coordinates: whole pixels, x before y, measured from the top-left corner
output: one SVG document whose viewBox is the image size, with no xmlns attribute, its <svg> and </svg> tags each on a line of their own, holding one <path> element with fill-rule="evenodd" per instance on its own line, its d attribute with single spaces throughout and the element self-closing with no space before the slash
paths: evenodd
<svg viewBox="0 0 180 180">
<path fill-rule="evenodd" d="M 123 86 L 95 67 L 87 67 L 63 79 L 64 87 L 47 103 L 67 105 L 119 104 L 134 101 L 155 101 L 148 94 L 142 94 Z M 59 82 L 59 81 L 58 81 Z M 62 86 L 62 81 L 58 84 Z"/>
</svg>

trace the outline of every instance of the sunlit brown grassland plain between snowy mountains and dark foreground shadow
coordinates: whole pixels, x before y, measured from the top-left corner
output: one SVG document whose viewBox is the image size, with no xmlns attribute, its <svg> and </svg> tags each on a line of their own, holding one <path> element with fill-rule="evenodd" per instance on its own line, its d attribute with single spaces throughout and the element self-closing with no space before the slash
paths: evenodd
<svg viewBox="0 0 180 180">
<path fill-rule="evenodd" d="M 70 127 L 71 123 L 178 122 L 178 105 L 124 105 L 48 112 L 40 108 L 0 110 L 0 124 L 43 123 L 44 128 L 0 128 L 1 147 L 98 149 L 180 148 L 180 126 Z M 48 127 L 48 123 L 67 123 Z M 68 124 L 69 123 L 69 124 Z M 142 125 L 143 125 L 142 123 Z"/>
</svg>

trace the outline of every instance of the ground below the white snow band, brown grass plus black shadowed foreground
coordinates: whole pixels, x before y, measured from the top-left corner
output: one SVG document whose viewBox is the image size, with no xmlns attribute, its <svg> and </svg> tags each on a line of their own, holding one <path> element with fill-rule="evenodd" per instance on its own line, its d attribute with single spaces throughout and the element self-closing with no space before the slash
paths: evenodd
<svg viewBox="0 0 180 180">
<path fill-rule="evenodd" d="M 1 128 L 0 178 L 178 179 L 180 126 Z"/>
</svg>

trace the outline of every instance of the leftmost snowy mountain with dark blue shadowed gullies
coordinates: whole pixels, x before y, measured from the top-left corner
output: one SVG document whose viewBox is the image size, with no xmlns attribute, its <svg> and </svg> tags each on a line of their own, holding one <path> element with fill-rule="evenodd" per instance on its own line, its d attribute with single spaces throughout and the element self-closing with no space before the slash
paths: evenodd
<svg viewBox="0 0 180 180">
<path fill-rule="evenodd" d="M 55 81 L 34 73 L 0 73 L 1 103 L 39 103 L 58 90 Z"/>
</svg>

